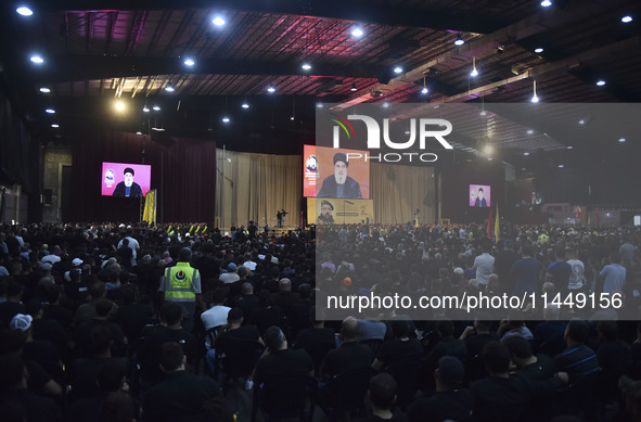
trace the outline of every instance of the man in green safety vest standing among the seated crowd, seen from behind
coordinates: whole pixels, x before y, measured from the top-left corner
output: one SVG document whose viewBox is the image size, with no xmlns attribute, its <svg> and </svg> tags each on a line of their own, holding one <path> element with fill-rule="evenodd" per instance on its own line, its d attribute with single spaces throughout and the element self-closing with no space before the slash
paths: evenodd
<svg viewBox="0 0 641 422">
<path fill-rule="evenodd" d="M 201 290 L 201 273 L 190 266 L 191 250 L 183 247 L 178 253 L 176 266 L 168 267 L 161 280 L 161 304 L 174 302 L 182 308 L 182 328 L 193 331 L 196 309 L 204 310 Z"/>
</svg>

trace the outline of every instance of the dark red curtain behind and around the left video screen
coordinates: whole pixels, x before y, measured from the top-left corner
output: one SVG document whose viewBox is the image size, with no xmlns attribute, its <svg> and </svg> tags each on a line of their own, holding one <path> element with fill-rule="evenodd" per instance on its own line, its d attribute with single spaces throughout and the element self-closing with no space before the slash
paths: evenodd
<svg viewBox="0 0 641 422">
<path fill-rule="evenodd" d="M 101 196 L 102 162 L 152 166 L 158 222 L 214 221 L 216 142 L 128 132 L 76 133 L 73 142 L 74 221 L 139 221 L 140 200 Z"/>
</svg>

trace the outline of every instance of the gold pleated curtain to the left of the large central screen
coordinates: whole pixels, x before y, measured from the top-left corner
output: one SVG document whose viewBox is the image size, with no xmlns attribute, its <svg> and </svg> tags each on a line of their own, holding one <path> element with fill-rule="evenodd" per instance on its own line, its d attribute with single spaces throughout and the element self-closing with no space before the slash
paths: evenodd
<svg viewBox="0 0 641 422">
<path fill-rule="evenodd" d="M 277 226 L 275 214 L 285 209 L 285 227 L 300 221 L 303 157 L 217 150 L 216 225 Z"/>
</svg>

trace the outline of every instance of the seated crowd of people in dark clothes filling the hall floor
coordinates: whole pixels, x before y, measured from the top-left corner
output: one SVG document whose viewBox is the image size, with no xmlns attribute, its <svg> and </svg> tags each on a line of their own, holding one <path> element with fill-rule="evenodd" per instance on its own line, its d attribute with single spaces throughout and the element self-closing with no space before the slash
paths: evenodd
<svg viewBox="0 0 641 422">
<path fill-rule="evenodd" d="M 641 421 L 637 228 L 201 228 L 0 226 L 2 420 Z M 324 308 L 540 292 L 621 305 Z"/>
</svg>

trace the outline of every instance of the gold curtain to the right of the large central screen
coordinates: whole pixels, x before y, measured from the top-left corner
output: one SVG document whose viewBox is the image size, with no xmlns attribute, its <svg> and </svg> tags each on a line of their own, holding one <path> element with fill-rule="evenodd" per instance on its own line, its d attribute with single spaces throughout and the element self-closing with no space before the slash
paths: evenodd
<svg viewBox="0 0 641 422">
<path fill-rule="evenodd" d="M 435 222 L 436 195 L 433 167 L 402 166 L 371 163 L 371 197 L 374 200 L 374 218 L 384 225 L 414 221 Z"/>
</svg>

